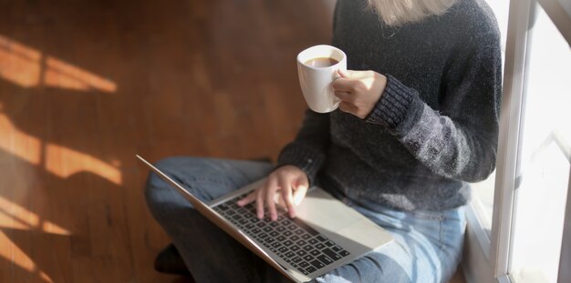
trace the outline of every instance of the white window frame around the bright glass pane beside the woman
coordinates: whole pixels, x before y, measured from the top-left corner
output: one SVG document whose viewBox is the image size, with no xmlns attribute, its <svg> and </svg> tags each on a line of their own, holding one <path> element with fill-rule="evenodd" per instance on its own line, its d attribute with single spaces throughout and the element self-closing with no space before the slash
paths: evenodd
<svg viewBox="0 0 571 283">
<path fill-rule="evenodd" d="M 489 235 L 478 212 L 477 200 L 467 209 L 467 243 L 462 268 L 470 283 L 510 283 L 512 226 L 517 187 L 520 185 L 521 134 L 524 128 L 526 66 L 531 31 L 535 24 L 535 7 L 540 5 L 571 46 L 571 4 L 561 0 L 510 1 L 504 61 L 504 89 L 500 114 L 500 135 L 496 161 L 492 231 Z M 568 153 L 561 148 L 568 157 Z M 567 188 L 566 217 L 559 261 L 558 282 L 571 282 L 571 172 Z M 477 243 L 477 244 L 476 244 Z"/>
</svg>

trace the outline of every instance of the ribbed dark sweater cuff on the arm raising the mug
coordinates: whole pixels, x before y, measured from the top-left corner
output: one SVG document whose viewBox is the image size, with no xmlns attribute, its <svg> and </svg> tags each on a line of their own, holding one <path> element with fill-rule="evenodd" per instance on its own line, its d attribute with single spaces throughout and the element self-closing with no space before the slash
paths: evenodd
<svg viewBox="0 0 571 283">
<path fill-rule="evenodd" d="M 410 114 L 413 105 L 413 93 L 415 90 L 402 85 L 393 76 L 387 76 L 387 86 L 380 96 L 379 102 L 365 117 L 365 121 L 372 124 L 388 126 L 395 130 Z"/>
</svg>

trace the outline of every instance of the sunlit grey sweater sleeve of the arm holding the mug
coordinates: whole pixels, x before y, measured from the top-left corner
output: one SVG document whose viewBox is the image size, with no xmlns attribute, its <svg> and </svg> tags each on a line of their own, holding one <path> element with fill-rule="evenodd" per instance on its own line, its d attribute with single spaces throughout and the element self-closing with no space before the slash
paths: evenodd
<svg viewBox="0 0 571 283">
<path fill-rule="evenodd" d="M 499 35 L 474 39 L 453 53 L 439 111 L 418 91 L 388 76 L 366 122 L 386 126 L 410 153 L 442 177 L 477 182 L 495 168 L 502 61 Z"/>
</svg>

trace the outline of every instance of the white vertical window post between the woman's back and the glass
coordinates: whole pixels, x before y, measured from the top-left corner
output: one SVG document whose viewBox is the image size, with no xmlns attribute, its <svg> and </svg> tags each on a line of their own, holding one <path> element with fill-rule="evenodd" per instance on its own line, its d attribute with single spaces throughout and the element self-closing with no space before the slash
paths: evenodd
<svg viewBox="0 0 571 283">
<path fill-rule="evenodd" d="M 521 133 L 523 130 L 526 62 L 529 53 L 534 0 L 510 2 L 505 46 L 504 90 L 493 197 L 490 263 L 493 276 L 507 275 L 512 234 L 514 199 L 521 176 Z"/>
</svg>

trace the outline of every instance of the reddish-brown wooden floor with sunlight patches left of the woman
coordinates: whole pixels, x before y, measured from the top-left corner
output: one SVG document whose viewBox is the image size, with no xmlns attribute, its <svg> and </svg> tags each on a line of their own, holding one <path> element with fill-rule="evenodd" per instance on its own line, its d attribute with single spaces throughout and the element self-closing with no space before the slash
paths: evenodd
<svg viewBox="0 0 571 283">
<path fill-rule="evenodd" d="M 0 0 L 0 282 L 183 282 L 152 268 L 169 239 L 134 155 L 275 158 L 306 107 L 296 54 L 329 42 L 331 11 Z"/>
</svg>

